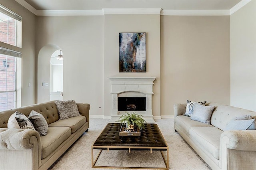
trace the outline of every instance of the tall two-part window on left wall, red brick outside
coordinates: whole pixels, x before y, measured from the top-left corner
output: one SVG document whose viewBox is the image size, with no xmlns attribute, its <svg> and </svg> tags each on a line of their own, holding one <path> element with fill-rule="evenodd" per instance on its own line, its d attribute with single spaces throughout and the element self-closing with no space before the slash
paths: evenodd
<svg viewBox="0 0 256 170">
<path fill-rule="evenodd" d="M 0 4 L 0 42 L 21 47 L 21 28 L 21 17 Z M 20 107 L 20 65 L 21 53 L 0 47 L 0 111 Z"/>
</svg>

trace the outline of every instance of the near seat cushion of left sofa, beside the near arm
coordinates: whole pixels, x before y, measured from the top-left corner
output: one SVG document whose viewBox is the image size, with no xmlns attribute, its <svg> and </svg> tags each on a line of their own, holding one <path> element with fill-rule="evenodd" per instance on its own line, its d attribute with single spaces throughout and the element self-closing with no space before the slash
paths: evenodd
<svg viewBox="0 0 256 170">
<path fill-rule="evenodd" d="M 71 136 L 69 127 L 48 127 L 45 136 L 41 136 L 42 159 L 50 155 L 62 142 Z"/>
</svg>

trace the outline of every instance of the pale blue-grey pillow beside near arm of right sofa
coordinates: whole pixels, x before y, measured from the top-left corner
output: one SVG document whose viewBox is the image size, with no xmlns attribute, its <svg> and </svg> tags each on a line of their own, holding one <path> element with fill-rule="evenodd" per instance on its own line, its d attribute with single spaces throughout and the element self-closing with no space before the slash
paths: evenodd
<svg viewBox="0 0 256 170">
<path fill-rule="evenodd" d="M 252 115 L 242 115 L 232 119 L 224 130 L 256 130 L 256 122 Z"/>
</svg>

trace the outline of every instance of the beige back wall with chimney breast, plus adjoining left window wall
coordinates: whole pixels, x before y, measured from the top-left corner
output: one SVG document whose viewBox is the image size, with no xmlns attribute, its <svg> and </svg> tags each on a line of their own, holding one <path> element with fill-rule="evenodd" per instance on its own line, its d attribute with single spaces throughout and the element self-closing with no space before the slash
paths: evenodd
<svg viewBox="0 0 256 170">
<path fill-rule="evenodd" d="M 64 100 L 90 103 L 91 115 L 111 115 L 110 76 L 157 77 L 155 117 L 173 115 L 186 99 L 230 103 L 229 16 L 34 16 L 14 0 L 1 3 L 23 17 L 22 105 L 37 101 L 37 88 L 38 101 L 48 101 L 50 86 L 41 83 L 50 79 L 50 56 L 37 59 L 47 45 L 64 54 Z M 146 73 L 119 73 L 119 32 L 146 32 Z"/>
</svg>

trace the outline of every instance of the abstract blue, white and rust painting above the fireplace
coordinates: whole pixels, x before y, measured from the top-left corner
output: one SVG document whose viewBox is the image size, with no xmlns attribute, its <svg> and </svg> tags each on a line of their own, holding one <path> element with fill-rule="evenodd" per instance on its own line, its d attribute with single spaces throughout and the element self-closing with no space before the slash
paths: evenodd
<svg viewBox="0 0 256 170">
<path fill-rule="evenodd" d="M 146 33 L 119 33 L 119 72 L 146 72 Z"/>
</svg>

